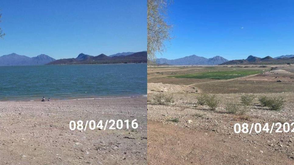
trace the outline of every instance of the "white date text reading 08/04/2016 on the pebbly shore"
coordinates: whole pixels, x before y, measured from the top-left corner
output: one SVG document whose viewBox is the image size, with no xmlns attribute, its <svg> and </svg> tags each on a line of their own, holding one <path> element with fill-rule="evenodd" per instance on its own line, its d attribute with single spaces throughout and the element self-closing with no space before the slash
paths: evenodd
<svg viewBox="0 0 294 165">
<path fill-rule="evenodd" d="M 137 119 L 134 119 L 132 121 L 129 120 L 86 120 L 83 122 L 82 120 L 79 120 L 75 122 L 74 120 L 69 122 L 69 129 L 70 130 L 84 130 L 86 131 L 87 129 L 90 130 L 121 130 L 122 128 L 126 129 L 137 129 L 138 128 L 138 123 Z"/>
</svg>

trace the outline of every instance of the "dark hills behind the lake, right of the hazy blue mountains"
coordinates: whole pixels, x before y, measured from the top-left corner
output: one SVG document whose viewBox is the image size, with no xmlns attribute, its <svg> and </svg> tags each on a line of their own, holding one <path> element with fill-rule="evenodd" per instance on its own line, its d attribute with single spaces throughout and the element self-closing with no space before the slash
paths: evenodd
<svg viewBox="0 0 294 165">
<path fill-rule="evenodd" d="M 147 63 L 147 51 L 136 52 L 130 55 L 106 56 L 100 54 L 98 56 L 90 56 L 80 53 L 76 58 L 58 59 L 49 62 L 47 65 L 68 65 L 68 64 L 110 64 L 110 63 Z"/>
</svg>

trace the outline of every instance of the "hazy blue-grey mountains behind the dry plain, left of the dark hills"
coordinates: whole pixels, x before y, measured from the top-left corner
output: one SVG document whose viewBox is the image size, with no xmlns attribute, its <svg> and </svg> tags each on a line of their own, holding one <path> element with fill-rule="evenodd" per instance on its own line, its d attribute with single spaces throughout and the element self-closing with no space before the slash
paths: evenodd
<svg viewBox="0 0 294 165">
<path fill-rule="evenodd" d="M 205 57 L 199 57 L 196 55 L 186 56 L 179 59 L 156 59 L 156 63 L 158 64 L 166 63 L 169 65 L 218 65 L 227 61 L 227 59 L 221 56 L 215 56 L 207 59 Z"/>
</svg>

